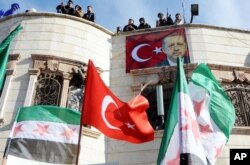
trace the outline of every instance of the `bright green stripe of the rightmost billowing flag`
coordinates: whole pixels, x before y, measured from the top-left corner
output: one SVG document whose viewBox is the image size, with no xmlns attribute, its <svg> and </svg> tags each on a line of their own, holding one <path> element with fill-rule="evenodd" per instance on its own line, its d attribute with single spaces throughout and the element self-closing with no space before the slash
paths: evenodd
<svg viewBox="0 0 250 165">
<path fill-rule="evenodd" d="M 191 81 L 210 94 L 209 112 L 216 125 L 229 138 L 235 122 L 234 106 L 206 64 L 200 64 L 193 72 Z"/>
</svg>

